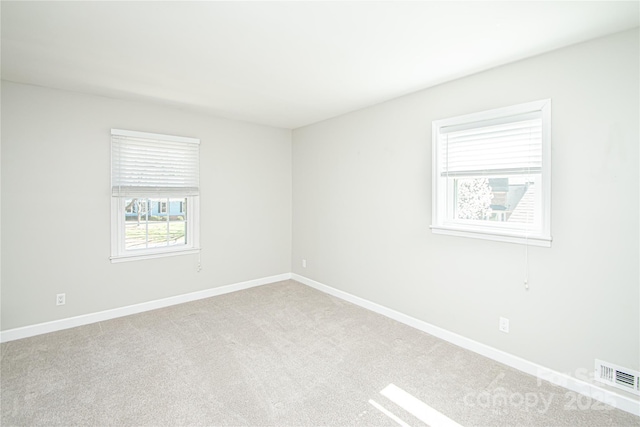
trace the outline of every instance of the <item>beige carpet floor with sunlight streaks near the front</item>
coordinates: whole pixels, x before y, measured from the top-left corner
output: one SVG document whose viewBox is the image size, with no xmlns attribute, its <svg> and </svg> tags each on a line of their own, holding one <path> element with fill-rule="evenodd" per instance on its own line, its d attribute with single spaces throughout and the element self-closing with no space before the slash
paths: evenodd
<svg viewBox="0 0 640 427">
<path fill-rule="evenodd" d="M 11 341 L 1 355 L 2 426 L 425 425 L 390 387 L 465 427 L 640 425 L 294 281 Z"/>
</svg>

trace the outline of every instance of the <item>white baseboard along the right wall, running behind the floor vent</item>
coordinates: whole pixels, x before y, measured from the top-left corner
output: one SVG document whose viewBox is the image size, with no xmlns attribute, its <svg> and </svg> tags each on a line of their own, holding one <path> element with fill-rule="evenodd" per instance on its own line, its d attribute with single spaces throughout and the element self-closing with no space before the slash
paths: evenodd
<svg viewBox="0 0 640 427">
<path fill-rule="evenodd" d="M 625 396 L 625 395 L 616 393 L 614 391 L 605 389 L 603 387 L 600 387 L 596 384 L 591 384 L 589 382 L 572 377 L 570 375 L 554 371 L 552 369 L 549 369 L 544 366 L 525 360 L 521 357 L 514 356 L 502 350 L 498 350 L 486 344 L 482 344 L 472 339 L 463 337 L 462 335 L 458 335 L 453 332 L 447 331 L 446 329 L 442 329 L 442 328 L 439 328 L 438 326 L 434 326 L 425 321 L 400 313 L 399 311 L 392 310 L 390 308 L 384 307 L 380 304 L 376 304 L 364 298 L 360 298 L 355 295 L 349 294 L 347 292 L 332 288 L 331 286 L 327 286 L 323 283 L 316 282 L 315 280 L 311 280 L 299 274 L 293 273 L 291 275 L 291 278 L 307 286 L 310 286 L 314 289 L 317 289 L 321 292 L 327 293 L 329 295 L 333 295 L 337 298 L 343 299 L 350 303 L 356 304 L 360 307 L 366 308 L 367 310 L 371 310 L 373 312 L 382 314 L 383 316 L 397 320 L 398 322 L 404 323 L 408 326 L 411 326 L 413 328 L 426 332 L 430 335 L 433 335 L 435 337 L 448 341 L 459 347 L 465 348 L 467 350 L 473 351 L 474 353 L 488 357 L 489 359 L 495 360 L 496 362 L 505 364 L 519 371 L 533 375 L 539 380 L 548 381 L 552 384 L 555 384 L 555 385 L 564 387 L 568 390 L 574 391 L 576 393 L 580 393 L 582 395 L 588 396 L 591 399 L 604 402 L 608 405 L 613 406 L 614 408 L 640 416 L 640 401 L 638 401 L 634 397 Z"/>
</svg>

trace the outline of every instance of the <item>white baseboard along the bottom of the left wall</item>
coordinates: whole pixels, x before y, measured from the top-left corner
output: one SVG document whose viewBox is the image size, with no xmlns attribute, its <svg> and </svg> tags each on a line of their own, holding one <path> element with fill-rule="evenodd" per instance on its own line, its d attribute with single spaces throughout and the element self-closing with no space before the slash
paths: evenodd
<svg viewBox="0 0 640 427">
<path fill-rule="evenodd" d="M 205 289 L 204 291 L 191 292 L 188 294 L 176 295 L 140 304 L 128 305 L 126 307 L 114 308 L 111 310 L 99 311 L 97 313 L 83 314 L 81 316 L 68 317 L 66 319 L 53 320 L 51 322 L 38 323 L 36 325 L 24 326 L 22 328 L 8 329 L 0 332 L 0 342 L 28 338 L 34 335 L 46 334 L 63 329 L 75 328 L 76 326 L 88 325 L 90 323 L 102 322 L 116 317 L 129 316 L 131 314 L 142 313 L 143 311 L 155 310 L 157 308 L 182 304 L 203 298 L 228 294 L 230 292 L 241 291 L 243 289 L 254 288 L 256 286 L 267 285 L 269 283 L 280 282 L 291 278 L 291 273 L 278 274 L 276 276 L 263 277 L 261 279 L 249 280 L 246 282 L 234 283 L 232 285 L 220 286 L 217 288 Z"/>
</svg>

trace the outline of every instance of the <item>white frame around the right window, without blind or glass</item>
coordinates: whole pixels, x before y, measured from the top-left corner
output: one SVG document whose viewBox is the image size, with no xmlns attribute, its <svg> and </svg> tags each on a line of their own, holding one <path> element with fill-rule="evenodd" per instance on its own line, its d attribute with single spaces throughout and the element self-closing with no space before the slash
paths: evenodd
<svg viewBox="0 0 640 427">
<path fill-rule="evenodd" d="M 500 222 L 487 224 L 473 223 L 473 220 L 447 218 L 447 209 L 453 207 L 455 198 L 448 194 L 446 177 L 441 176 L 440 129 L 473 122 L 502 119 L 509 116 L 540 112 L 542 119 L 542 168 L 540 174 L 540 229 L 535 234 L 522 227 L 500 225 Z M 477 113 L 465 114 L 432 122 L 432 223 L 434 234 L 519 243 L 533 246 L 551 246 L 551 99 L 527 102 L 509 107 L 496 108 Z M 484 175 L 489 177 L 488 175 Z M 449 186 L 451 187 L 451 186 Z"/>
</svg>

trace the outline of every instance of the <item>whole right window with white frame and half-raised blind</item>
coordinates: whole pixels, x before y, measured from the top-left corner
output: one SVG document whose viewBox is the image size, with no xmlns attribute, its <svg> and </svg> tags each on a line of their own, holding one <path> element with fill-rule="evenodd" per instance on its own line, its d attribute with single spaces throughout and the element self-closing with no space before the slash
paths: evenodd
<svg viewBox="0 0 640 427">
<path fill-rule="evenodd" d="M 434 233 L 551 246 L 551 100 L 433 122 Z"/>
</svg>

